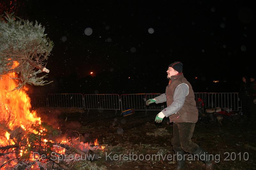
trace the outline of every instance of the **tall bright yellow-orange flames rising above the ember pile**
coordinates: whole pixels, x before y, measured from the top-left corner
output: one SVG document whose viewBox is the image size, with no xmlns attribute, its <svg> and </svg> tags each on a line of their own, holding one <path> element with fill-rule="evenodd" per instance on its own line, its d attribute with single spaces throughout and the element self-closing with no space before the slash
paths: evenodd
<svg viewBox="0 0 256 170">
<path fill-rule="evenodd" d="M 12 67 L 19 65 L 17 61 L 13 62 Z M 17 87 L 15 73 L 3 75 L 0 81 L 0 121 L 8 124 L 8 128 L 20 126 L 24 130 L 31 123 L 41 124 L 41 118 L 36 116 L 36 112 L 30 112 L 30 98 L 26 93 L 26 88 L 13 90 Z M 1 145 L 1 142 L 0 142 Z"/>
</svg>

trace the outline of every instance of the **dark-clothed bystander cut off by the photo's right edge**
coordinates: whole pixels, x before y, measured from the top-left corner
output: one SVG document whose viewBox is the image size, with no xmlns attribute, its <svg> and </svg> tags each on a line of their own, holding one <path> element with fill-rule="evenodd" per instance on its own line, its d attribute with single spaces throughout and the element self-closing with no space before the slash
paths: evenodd
<svg viewBox="0 0 256 170">
<path fill-rule="evenodd" d="M 250 85 L 250 109 L 251 109 L 251 115 L 252 115 L 252 122 L 255 122 L 256 117 L 256 81 L 255 77 L 251 76 L 251 85 Z"/>
</svg>

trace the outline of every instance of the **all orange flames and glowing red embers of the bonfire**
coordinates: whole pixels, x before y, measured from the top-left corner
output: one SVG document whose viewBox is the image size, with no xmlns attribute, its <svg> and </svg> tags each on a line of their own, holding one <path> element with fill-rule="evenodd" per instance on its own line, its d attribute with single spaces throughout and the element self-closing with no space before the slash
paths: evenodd
<svg viewBox="0 0 256 170">
<path fill-rule="evenodd" d="M 14 61 L 12 67 L 17 66 L 19 63 Z M 36 115 L 36 111 L 30 111 L 30 98 L 26 93 L 28 88 L 14 90 L 18 85 L 16 76 L 15 73 L 8 73 L 0 77 L 0 169 L 10 169 L 22 159 L 37 163 L 47 161 L 33 152 L 43 152 L 47 156 L 50 155 L 49 151 L 57 155 L 65 154 L 65 146 L 72 146 L 71 139 L 57 142 L 47 139 L 48 130 L 41 124 L 41 118 Z M 88 148 L 104 150 L 97 139 L 93 147 L 90 147 L 91 143 L 83 143 L 77 139 L 73 146 L 81 151 Z M 33 164 L 36 163 L 31 163 L 30 168 L 38 168 L 38 165 Z"/>
</svg>

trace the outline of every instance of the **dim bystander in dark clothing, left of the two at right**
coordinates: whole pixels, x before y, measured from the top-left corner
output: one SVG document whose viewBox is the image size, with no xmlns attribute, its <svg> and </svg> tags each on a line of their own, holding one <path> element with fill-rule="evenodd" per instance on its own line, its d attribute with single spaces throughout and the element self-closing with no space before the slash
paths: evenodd
<svg viewBox="0 0 256 170">
<path fill-rule="evenodd" d="M 242 77 L 243 84 L 239 91 L 239 99 L 242 100 L 242 113 L 243 115 L 246 115 L 248 119 L 251 119 L 250 114 L 250 84 L 249 81 L 247 81 L 247 78 L 244 76 Z"/>
</svg>

